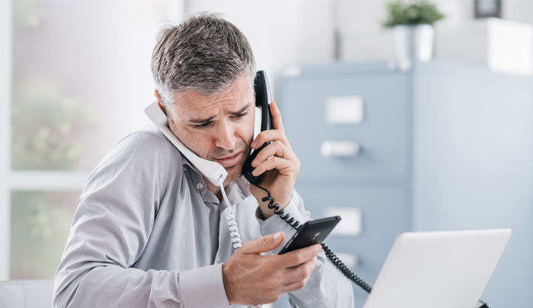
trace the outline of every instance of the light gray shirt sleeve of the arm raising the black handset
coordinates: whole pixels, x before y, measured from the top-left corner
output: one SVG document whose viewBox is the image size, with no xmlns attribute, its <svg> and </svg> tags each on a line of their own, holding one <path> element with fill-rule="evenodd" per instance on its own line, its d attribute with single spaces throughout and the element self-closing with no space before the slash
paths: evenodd
<svg viewBox="0 0 533 308">
<path fill-rule="evenodd" d="M 290 214 L 290 217 L 300 223 L 309 221 L 311 215 L 309 211 L 304 208 L 304 201 L 302 197 L 296 192 L 292 193 L 290 202 L 284 208 L 285 214 Z M 259 212 L 257 212 L 259 211 Z M 262 235 L 269 235 L 274 232 L 283 231 L 285 233 L 285 240 L 278 246 L 278 248 L 271 251 L 276 254 L 281 251 L 281 248 L 290 240 L 296 230 L 288 223 L 283 221 L 280 216 L 273 215 L 263 220 L 260 215 L 259 207 L 256 211 L 256 218 L 261 225 Z M 283 214 L 283 215 L 285 215 Z M 311 273 L 309 281 L 307 281 L 304 288 L 288 293 L 290 302 L 299 308 L 310 307 L 353 307 L 353 289 L 351 281 L 342 274 L 335 265 L 328 260 L 324 252 L 318 253 L 316 258 L 316 267 Z"/>
</svg>

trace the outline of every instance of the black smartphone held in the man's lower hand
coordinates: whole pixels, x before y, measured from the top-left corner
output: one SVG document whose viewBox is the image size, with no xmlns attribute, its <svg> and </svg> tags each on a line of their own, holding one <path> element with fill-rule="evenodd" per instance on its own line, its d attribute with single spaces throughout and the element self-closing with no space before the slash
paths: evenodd
<svg viewBox="0 0 533 308">
<path fill-rule="evenodd" d="M 322 244 L 325 237 L 330 234 L 339 221 L 341 221 L 340 216 L 332 216 L 304 223 L 278 254 L 281 255 L 313 244 Z"/>
</svg>

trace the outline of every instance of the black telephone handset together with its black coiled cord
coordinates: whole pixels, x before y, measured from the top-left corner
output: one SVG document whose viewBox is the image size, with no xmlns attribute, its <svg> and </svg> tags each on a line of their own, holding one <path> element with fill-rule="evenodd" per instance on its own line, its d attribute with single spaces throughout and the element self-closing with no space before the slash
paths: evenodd
<svg viewBox="0 0 533 308">
<path fill-rule="evenodd" d="M 272 100 L 269 88 L 269 81 L 267 79 L 267 74 L 264 73 L 264 71 L 257 71 L 257 73 L 255 74 L 254 89 L 255 106 L 261 109 L 261 131 L 272 130 L 274 127 L 272 127 L 272 117 L 270 115 L 269 109 L 269 104 L 272 102 Z M 256 134 L 254 134 L 254 137 L 255 135 Z M 265 193 L 267 193 L 267 197 L 263 197 L 262 202 L 268 202 L 268 208 L 273 209 L 274 214 L 278 215 L 281 219 L 283 219 L 283 221 L 291 225 L 292 228 L 298 230 L 300 227 L 302 227 L 300 222 L 295 220 L 295 218 L 291 217 L 289 214 L 285 214 L 285 211 L 283 209 L 279 209 L 279 204 L 274 204 L 274 198 L 271 197 L 269 190 L 259 185 L 261 183 L 262 176 L 252 175 L 252 171 L 255 169 L 254 167 L 252 167 L 252 160 L 254 160 L 257 156 L 257 153 L 259 153 L 259 151 L 261 151 L 267 145 L 268 144 L 263 144 L 260 148 L 257 148 L 257 150 L 252 151 L 252 153 L 244 163 L 243 176 L 252 185 L 257 186 L 257 188 L 260 188 L 264 190 Z M 363 288 L 363 290 L 367 291 L 367 293 L 370 293 L 372 287 L 368 283 L 366 283 L 363 279 L 360 279 L 360 277 L 357 276 L 356 273 L 352 272 L 351 269 L 346 267 L 346 265 L 344 265 L 344 263 L 337 257 L 337 255 L 335 255 L 335 253 L 331 251 L 328 246 L 322 244 L 322 247 L 328 259 L 342 272 L 342 274 L 344 274 L 344 276 L 346 276 L 346 278 L 356 283 L 358 286 L 360 286 L 360 288 Z"/>
</svg>

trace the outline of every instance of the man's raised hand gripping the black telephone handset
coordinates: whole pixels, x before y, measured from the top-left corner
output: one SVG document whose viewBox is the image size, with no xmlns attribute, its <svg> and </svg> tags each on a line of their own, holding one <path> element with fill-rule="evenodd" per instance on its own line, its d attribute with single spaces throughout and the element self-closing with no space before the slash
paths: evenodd
<svg viewBox="0 0 533 308">
<path fill-rule="evenodd" d="M 257 135 L 252 142 L 252 148 L 260 148 L 263 144 L 273 141 L 265 146 L 255 160 L 252 160 L 252 172 L 254 176 L 263 174 L 261 187 L 266 188 L 274 198 L 274 204 L 279 204 L 280 209 L 289 204 L 290 195 L 295 187 L 296 177 L 299 172 L 300 162 L 290 148 L 289 141 L 285 137 L 285 130 L 281 122 L 281 113 L 276 103 L 270 104 L 272 126 L 274 130 L 265 130 Z M 254 195 L 264 218 L 274 215 L 274 210 L 267 207 L 268 202 L 263 202 L 262 197 L 267 197 L 263 190 L 250 185 L 250 192 Z"/>
</svg>

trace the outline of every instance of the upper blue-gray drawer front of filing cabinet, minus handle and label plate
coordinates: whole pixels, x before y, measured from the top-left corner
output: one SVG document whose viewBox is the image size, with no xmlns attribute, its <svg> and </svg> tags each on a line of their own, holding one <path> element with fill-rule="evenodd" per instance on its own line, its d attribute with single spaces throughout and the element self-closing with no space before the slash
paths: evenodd
<svg viewBox="0 0 533 308">
<path fill-rule="evenodd" d="M 360 124 L 326 123 L 330 97 L 363 98 Z M 403 181 L 407 175 L 407 76 L 400 73 L 356 77 L 285 78 L 281 90 L 283 124 L 302 162 L 300 181 Z M 351 141 L 358 155 L 324 157 L 324 141 Z"/>
</svg>

